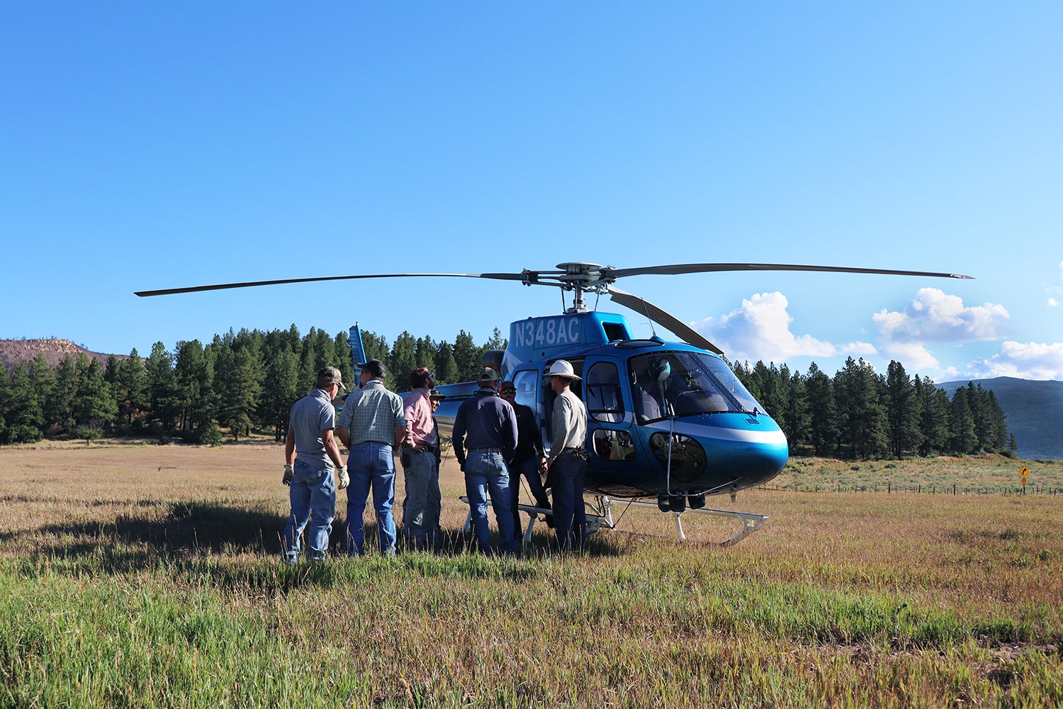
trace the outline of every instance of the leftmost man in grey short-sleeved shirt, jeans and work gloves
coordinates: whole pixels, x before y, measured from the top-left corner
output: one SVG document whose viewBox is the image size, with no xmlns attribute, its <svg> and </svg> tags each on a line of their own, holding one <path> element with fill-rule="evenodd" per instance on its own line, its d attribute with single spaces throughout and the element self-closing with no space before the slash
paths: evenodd
<svg viewBox="0 0 1063 709">
<path fill-rule="evenodd" d="M 333 437 L 336 409 L 332 400 L 344 389 L 339 370 L 325 367 L 318 372 L 314 390 L 291 407 L 288 416 L 288 438 L 284 445 L 284 477 L 291 486 L 288 497 L 291 513 L 284 527 L 284 558 L 288 563 L 299 560 L 303 529 L 306 533 L 307 556 L 311 561 L 324 561 L 328 535 L 336 516 L 336 483 L 333 468 L 339 472 L 339 489 L 349 483 L 347 468 Z"/>
</svg>

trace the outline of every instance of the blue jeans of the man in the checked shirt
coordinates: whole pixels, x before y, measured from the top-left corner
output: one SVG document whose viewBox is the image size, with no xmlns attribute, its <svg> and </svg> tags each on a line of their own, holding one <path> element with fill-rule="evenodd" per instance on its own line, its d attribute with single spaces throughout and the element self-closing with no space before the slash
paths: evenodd
<svg viewBox="0 0 1063 709">
<path fill-rule="evenodd" d="M 361 518 L 366 512 L 369 489 L 372 488 L 381 554 L 393 555 L 395 520 L 391 516 L 391 506 L 395 501 L 395 463 L 391 457 L 391 446 L 375 441 L 355 443 L 351 446 L 351 455 L 347 459 L 347 472 L 351 475 L 351 485 L 347 489 L 347 529 L 343 535 L 343 547 L 352 556 L 364 553 L 365 534 Z"/>
</svg>

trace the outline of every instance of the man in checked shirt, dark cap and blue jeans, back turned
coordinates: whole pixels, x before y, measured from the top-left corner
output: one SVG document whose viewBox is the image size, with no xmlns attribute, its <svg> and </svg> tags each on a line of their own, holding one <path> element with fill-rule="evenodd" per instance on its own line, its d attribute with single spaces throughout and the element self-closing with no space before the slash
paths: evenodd
<svg viewBox="0 0 1063 709">
<path fill-rule="evenodd" d="M 384 387 L 387 373 L 379 359 L 358 365 L 361 369 L 357 391 L 343 404 L 336 433 L 351 454 L 351 488 L 347 491 L 347 530 L 344 547 L 350 555 L 362 553 L 362 517 L 369 490 L 373 490 L 381 554 L 395 553 L 395 521 L 391 507 L 395 500 L 395 465 L 392 451 L 406 437 L 402 396 Z"/>
</svg>

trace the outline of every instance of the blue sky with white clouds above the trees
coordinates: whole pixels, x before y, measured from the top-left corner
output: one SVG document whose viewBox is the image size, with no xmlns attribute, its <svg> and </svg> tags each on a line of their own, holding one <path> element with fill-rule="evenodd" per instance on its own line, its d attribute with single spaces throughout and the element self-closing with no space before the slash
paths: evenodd
<svg viewBox="0 0 1063 709">
<path fill-rule="evenodd" d="M 0 337 L 147 354 L 357 321 L 485 341 L 559 293 L 133 291 L 819 264 L 977 280 L 618 285 L 739 360 L 1063 379 L 1063 5 L 394 4 L 3 3 Z"/>
</svg>

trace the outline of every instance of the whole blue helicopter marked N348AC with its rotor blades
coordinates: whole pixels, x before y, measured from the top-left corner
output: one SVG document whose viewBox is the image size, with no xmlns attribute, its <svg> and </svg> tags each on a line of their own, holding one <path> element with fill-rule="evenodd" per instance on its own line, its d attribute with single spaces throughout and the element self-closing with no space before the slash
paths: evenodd
<svg viewBox="0 0 1063 709">
<path fill-rule="evenodd" d="M 645 299 L 621 290 L 618 278 L 645 274 L 724 271 L 813 271 L 972 278 L 961 273 L 892 269 L 802 266 L 787 264 L 673 264 L 614 268 L 586 261 L 558 264 L 556 270 L 496 273 L 376 273 L 226 283 L 136 291 L 151 297 L 324 281 L 395 277 L 470 277 L 512 281 L 525 286 L 554 286 L 562 292 L 562 313 L 516 320 L 505 350 L 492 350 L 483 364 L 517 387 L 516 401 L 535 411 L 543 441 L 551 429 L 554 394 L 546 372 L 558 359 L 569 361 L 580 378 L 573 391 L 587 408 L 588 467 L 585 490 L 594 496 L 588 531 L 614 526 L 613 501 L 656 507 L 673 514 L 679 539 L 680 516 L 687 511 L 729 518 L 742 528 L 723 544 L 733 544 L 761 528 L 765 516 L 706 508 L 706 497 L 763 485 L 789 459 L 779 425 L 742 385 L 723 358 L 724 352 L 689 325 Z M 571 305 L 564 294 L 571 293 Z M 590 308 L 587 296 L 608 296 L 681 338 L 665 341 L 656 334 L 637 338 L 623 315 Z M 351 328 L 352 358 L 366 361 L 357 325 Z M 356 371 L 357 374 L 357 371 Z M 356 377 L 357 378 L 357 377 Z M 461 401 L 473 395 L 475 382 L 440 385 L 445 399 L 436 411 L 440 433 L 450 435 Z M 526 536 L 546 509 L 521 505 L 532 516 Z"/>
</svg>

